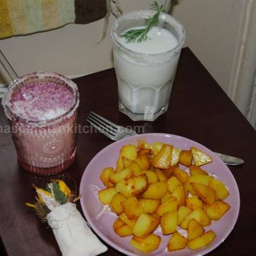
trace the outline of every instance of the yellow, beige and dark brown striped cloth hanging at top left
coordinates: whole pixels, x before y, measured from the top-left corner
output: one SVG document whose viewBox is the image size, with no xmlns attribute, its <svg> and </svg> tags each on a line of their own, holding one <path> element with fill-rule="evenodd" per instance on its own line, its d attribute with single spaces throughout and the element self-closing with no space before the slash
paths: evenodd
<svg viewBox="0 0 256 256">
<path fill-rule="evenodd" d="M 0 0 L 0 38 L 87 24 L 106 16 L 106 0 Z"/>
</svg>

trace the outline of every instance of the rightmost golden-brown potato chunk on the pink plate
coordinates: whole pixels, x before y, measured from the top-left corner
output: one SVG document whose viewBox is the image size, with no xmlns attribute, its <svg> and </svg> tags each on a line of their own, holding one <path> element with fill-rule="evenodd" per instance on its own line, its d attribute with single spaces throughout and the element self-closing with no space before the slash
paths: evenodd
<svg viewBox="0 0 256 256">
<path fill-rule="evenodd" d="M 220 218 L 230 209 L 230 205 L 221 200 L 216 200 L 211 205 L 205 205 L 205 211 L 211 220 Z"/>
</svg>

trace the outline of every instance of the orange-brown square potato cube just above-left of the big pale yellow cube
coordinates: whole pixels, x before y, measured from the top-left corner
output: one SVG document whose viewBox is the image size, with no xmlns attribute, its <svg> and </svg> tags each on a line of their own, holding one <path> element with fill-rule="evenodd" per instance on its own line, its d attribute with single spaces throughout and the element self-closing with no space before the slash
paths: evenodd
<svg viewBox="0 0 256 256">
<path fill-rule="evenodd" d="M 140 202 L 135 196 L 127 198 L 122 203 L 124 213 L 129 218 L 129 220 L 138 218 L 141 213 L 143 213 L 143 207 L 140 205 Z"/>
</svg>

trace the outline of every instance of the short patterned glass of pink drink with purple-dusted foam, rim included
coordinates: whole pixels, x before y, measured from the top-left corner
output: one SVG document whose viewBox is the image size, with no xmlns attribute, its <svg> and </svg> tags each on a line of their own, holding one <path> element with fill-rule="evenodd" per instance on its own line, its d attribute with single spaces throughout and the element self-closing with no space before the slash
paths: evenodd
<svg viewBox="0 0 256 256">
<path fill-rule="evenodd" d="M 53 72 L 27 74 L 10 84 L 2 104 L 23 168 L 52 175 L 73 163 L 79 106 L 75 83 Z"/>
</svg>

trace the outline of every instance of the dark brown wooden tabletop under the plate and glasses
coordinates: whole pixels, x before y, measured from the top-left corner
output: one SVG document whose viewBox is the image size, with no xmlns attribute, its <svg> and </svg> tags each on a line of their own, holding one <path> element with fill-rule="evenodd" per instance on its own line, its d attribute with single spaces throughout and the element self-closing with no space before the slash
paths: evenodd
<svg viewBox="0 0 256 256">
<path fill-rule="evenodd" d="M 89 132 L 86 123 L 89 111 L 95 111 L 116 124 L 143 125 L 144 132 L 179 134 L 213 151 L 244 159 L 243 166 L 230 167 L 241 196 L 239 218 L 225 242 L 209 255 L 255 253 L 256 132 L 193 52 L 188 48 L 182 49 L 168 112 L 155 122 L 132 122 L 118 112 L 113 68 L 74 81 L 80 92 L 79 124 L 84 127 L 84 132 L 78 134 L 75 162 L 61 174 L 72 189 L 79 191 L 86 165 L 97 152 L 112 143 L 100 133 Z M 6 127 L 8 121 L 0 107 L 1 250 L 12 256 L 61 255 L 51 228 L 40 223 L 33 211 L 24 205 L 35 201 L 31 184 L 46 184 L 50 177 L 31 175 L 20 167 L 12 136 Z M 79 204 L 78 209 L 81 211 Z M 109 247 L 103 255 L 122 254 Z"/>
</svg>

